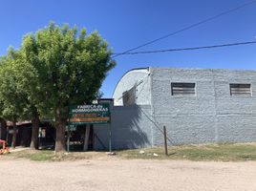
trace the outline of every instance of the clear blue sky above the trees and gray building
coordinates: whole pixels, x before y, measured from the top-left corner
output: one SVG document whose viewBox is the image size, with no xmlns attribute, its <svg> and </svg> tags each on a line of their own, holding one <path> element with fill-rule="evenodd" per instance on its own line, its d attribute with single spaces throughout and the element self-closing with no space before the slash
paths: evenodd
<svg viewBox="0 0 256 191">
<path fill-rule="evenodd" d="M 8 0 L 0 1 L 0 55 L 17 49 L 22 36 L 50 21 L 97 31 L 121 53 L 248 0 Z M 138 51 L 256 40 L 256 3 Z M 256 45 L 211 50 L 120 55 L 100 91 L 112 97 L 122 74 L 141 67 L 256 70 Z"/>
</svg>

